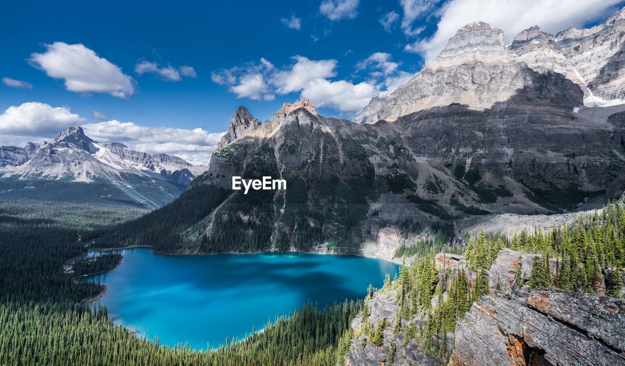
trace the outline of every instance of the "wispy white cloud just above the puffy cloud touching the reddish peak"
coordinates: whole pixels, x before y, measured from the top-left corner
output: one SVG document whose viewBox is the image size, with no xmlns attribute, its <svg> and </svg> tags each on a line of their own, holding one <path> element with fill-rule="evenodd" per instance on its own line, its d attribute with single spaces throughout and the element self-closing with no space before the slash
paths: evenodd
<svg viewBox="0 0 625 366">
<path fill-rule="evenodd" d="M 337 61 L 310 60 L 304 56 L 294 56 L 295 64 L 291 69 L 279 71 L 272 75 L 271 84 L 277 87 L 278 94 L 289 94 L 302 90 L 310 80 L 334 77 Z"/>
</svg>

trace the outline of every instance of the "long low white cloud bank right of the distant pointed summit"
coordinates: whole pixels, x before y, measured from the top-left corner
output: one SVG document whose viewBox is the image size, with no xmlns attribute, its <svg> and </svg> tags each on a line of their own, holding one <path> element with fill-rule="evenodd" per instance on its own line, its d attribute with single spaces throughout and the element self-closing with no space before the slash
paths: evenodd
<svg viewBox="0 0 625 366">
<path fill-rule="evenodd" d="M 83 129 L 86 135 L 101 143 L 121 142 L 133 150 L 166 153 L 199 165 L 208 163 L 224 135 L 224 132 L 211 133 L 202 128 L 149 127 L 118 120 L 87 123 Z"/>
</svg>

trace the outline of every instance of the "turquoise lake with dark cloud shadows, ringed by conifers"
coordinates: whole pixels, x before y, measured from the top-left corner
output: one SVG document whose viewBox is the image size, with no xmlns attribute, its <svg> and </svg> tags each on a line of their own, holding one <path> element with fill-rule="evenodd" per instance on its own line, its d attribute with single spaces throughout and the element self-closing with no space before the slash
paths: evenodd
<svg viewBox="0 0 625 366">
<path fill-rule="evenodd" d="M 242 339 L 276 315 L 308 301 L 319 308 L 361 299 L 399 266 L 379 259 L 321 254 L 213 254 L 171 256 L 149 248 L 123 251 L 101 281 L 99 300 L 117 324 L 161 344 L 214 348 Z"/>
</svg>

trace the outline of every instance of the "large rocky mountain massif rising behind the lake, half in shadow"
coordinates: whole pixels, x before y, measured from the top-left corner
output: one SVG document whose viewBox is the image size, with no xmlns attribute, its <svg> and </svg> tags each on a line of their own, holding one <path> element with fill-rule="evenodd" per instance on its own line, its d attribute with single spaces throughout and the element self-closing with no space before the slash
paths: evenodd
<svg viewBox="0 0 625 366">
<path fill-rule="evenodd" d="M 467 24 L 406 84 L 374 97 L 360 123 L 323 117 L 309 100 L 285 103 L 264 123 L 239 107 L 207 173 L 161 215 L 207 192 L 210 205 L 155 248 L 362 253 L 387 229 L 457 236 L 476 215 L 562 213 L 618 198 L 623 14 L 556 36 L 531 27 L 508 46 L 501 30 Z M 272 176 L 288 188 L 242 195 L 230 190 L 232 176 Z M 160 224 L 149 220 L 128 235 L 144 238 Z"/>
</svg>

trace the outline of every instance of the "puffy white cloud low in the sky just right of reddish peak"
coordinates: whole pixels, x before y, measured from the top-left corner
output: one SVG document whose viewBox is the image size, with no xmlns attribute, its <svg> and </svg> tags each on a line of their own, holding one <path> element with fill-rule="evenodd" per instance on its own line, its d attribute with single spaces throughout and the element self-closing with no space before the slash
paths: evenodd
<svg viewBox="0 0 625 366">
<path fill-rule="evenodd" d="M 341 112 L 357 112 L 364 108 L 379 90 L 367 82 L 352 84 L 346 80 L 309 81 L 301 96 L 312 100 L 317 107 L 329 107 Z"/>
</svg>

